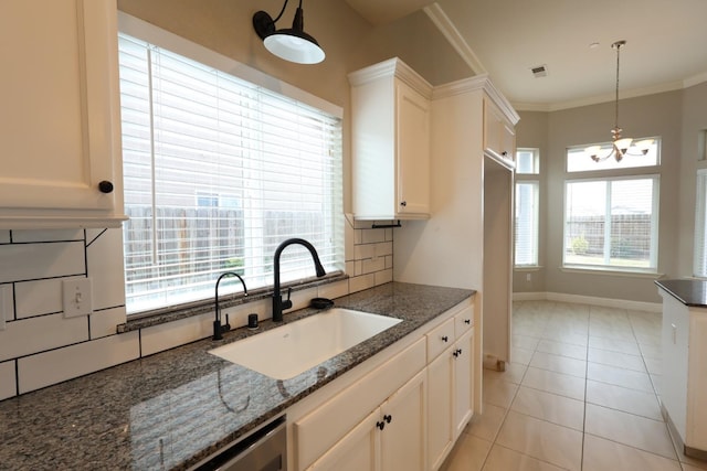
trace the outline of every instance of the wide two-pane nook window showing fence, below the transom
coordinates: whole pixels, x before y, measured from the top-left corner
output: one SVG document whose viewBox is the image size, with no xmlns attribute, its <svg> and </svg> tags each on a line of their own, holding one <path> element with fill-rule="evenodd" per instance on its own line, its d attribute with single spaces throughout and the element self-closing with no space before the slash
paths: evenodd
<svg viewBox="0 0 707 471">
<path fill-rule="evenodd" d="M 564 183 L 564 267 L 657 270 L 658 175 Z"/>
</svg>

